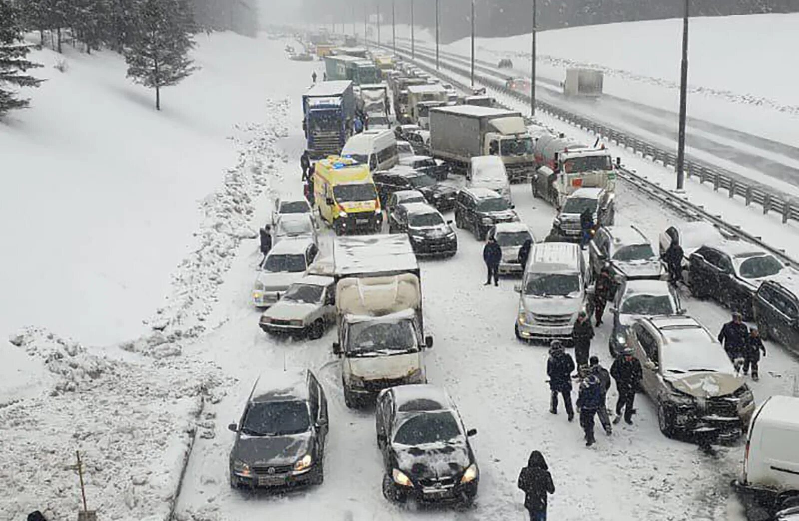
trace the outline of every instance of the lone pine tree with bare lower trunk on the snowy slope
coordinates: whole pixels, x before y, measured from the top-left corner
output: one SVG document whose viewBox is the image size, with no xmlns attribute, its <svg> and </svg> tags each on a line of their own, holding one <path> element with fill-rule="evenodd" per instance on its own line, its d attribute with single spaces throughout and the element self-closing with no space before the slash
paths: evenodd
<svg viewBox="0 0 799 521">
<path fill-rule="evenodd" d="M 173 86 L 197 67 L 188 56 L 194 46 L 181 0 L 143 0 L 137 10 L 133 44 L 125 50 L 128 77 L 155 89 L 155 107 L 161 110 L 161 87 Z"/>
</svg>

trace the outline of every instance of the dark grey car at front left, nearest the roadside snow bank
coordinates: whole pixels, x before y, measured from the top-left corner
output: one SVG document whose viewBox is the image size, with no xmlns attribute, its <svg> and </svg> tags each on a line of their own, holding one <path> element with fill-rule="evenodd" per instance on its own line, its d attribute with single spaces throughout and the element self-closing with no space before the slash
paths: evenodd
<svg viewBox="0 0 799 521">
<path fill-rule="evenodd" d="M 285 487 L 324 480 L 328 400 L 308 370 L 269 373 L 252 387 L 230 451 L 231 487 Z"/>
</svg>

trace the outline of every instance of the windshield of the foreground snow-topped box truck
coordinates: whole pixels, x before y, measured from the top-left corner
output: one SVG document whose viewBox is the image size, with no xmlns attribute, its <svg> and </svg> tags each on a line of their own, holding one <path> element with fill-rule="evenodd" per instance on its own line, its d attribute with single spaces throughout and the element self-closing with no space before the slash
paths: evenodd
<svg viewBox="0 0 799 521">
<path fill-rule="evenodd" d="M 347 352 L 352 356 L 378 356 L 419 350 L 411 320 L 362 322 L 352 325 Z"/>
</svg>

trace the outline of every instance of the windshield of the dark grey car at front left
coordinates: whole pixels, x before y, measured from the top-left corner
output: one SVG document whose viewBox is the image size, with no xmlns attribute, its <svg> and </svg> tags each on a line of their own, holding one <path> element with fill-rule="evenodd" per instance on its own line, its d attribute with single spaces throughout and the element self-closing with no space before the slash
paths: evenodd
<svg viewBox="0 0 799 521">
<path fill-rule="evenodd" d="M 251 436 L 285 436 L 306 432 L 309 427 L 305 402 L 260 402 L 247 409 L 241 432 Z"/>
</svg>

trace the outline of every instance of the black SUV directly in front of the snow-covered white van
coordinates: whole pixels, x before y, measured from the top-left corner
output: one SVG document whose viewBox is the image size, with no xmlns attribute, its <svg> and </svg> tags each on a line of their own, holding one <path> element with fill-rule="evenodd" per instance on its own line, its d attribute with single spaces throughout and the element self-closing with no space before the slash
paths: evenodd
<svg viewBox="0 0 799 521">
<path fill-rule="evenodd" d="M 455 196 L 455 226 L 471 230 L 478 241 L 483 241 L 488 229 L 497 223 L 519 221 L 513 209 L 494 190 L 462 189 Z"/>
</svg>

